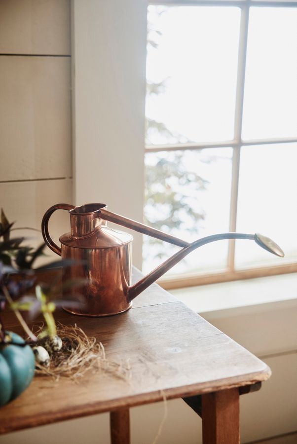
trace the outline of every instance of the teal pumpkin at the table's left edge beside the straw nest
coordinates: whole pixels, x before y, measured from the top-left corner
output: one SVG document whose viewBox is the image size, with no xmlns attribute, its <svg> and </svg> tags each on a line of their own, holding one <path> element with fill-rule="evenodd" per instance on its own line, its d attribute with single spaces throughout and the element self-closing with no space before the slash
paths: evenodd
<svg viewBox="0 0 297 444">
<path fill-rule="evenodd" d="M 14 343 L 24 344 L 16 333 L 6 332 Z M 29 345 L 0 343 L 0 406 L 19 396 L 30 384 L 35 370 L 35 357 Z"/>
</svg>

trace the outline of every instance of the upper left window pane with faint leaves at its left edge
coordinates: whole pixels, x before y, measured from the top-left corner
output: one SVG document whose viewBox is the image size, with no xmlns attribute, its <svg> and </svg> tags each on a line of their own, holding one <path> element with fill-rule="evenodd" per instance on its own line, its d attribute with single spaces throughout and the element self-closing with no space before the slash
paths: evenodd
<svg viewBox="0 0 297 444">
<path fill-rule="evenodd" d="M 238 7 L 148 7 L 148 144 L 233 139 L 239 25 Z"/>
</svg>

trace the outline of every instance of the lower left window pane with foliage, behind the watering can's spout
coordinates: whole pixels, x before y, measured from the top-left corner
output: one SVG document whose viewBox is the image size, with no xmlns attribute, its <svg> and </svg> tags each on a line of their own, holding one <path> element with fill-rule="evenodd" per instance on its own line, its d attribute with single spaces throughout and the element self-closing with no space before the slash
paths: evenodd
<svg viewBox="0 0 297 444">
<path fill-rule="evenodd" d="M 147 153 L 145 222 L 188 242 L 228 231 L 231 158 L 231 148 Z M 227 247 L 227 241 L 205 245 L 169 274 L 224 268 Z M 146 237 L 143 271 L 179 249 Z"/>
</svg>

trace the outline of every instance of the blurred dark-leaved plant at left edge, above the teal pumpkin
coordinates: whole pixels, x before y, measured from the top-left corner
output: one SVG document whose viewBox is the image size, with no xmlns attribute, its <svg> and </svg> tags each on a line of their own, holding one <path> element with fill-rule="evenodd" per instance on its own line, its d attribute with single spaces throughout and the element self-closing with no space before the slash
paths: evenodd
<svg viewBox="0 0 297 444">
<path fill-rule="evenodd" d="M 75 307 L 79 304 L 79 295 L 76 299 L 63 299 L 63 289 L 73 286 L 80 287 L 85 280 L 75 280 L 61 283 L 61 277 L 55 277 L 51 283 L 37 282 L 37 274 L 45 276 L 50 270 L 62 266 L 71 266 L 73 261 L 60 260 L 33 269 L 36 259 L 43 255 L 45 244 L 37 249 L 23 245 L 24 237 L 10 238 L 14 222 L 8 222 L 1 209 L 0 222 L 0 343 L 5 343 L 5 326 L 1 312 L 5 305 L 13 310 L 25 333 L 34 342 L 45 336 L 55 336 L 57 333 L 53 312 L 56 307 Z M 16 228 L 17 229 L 17 228 Z M 28 294 L 29 292 L 29 294 Z M 32 321 L 40 313 L 45 326 L 38 338 L 31 332 L 21 311 L 28 312 L 28 320 Z"/>
</svg>

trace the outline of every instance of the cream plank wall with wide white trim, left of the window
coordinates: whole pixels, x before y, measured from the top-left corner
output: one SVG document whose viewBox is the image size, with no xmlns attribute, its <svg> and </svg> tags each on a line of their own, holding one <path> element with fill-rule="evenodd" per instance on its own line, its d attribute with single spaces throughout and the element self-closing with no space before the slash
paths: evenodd
<svg viewBox="0 0 297 444">
<path fill-rule="evenodd" d="M 142 220 L 146 1 L 134 3 L 74 1 L 71 42 L 70 0 L 0 1 L 0 206 L 18 226 L 40 228 L 59 202 Z M 63 213 L 50 223 L 56 241 L 69 231 Z"/>
</svg>

